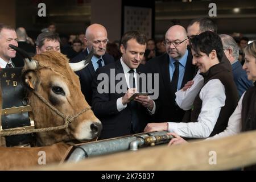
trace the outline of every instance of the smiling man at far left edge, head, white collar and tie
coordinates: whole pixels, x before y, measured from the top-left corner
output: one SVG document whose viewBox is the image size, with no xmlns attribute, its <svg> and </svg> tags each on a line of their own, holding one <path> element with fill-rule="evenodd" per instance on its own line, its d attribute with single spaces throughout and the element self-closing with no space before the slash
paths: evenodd
<svg viewBox="0 0 256 182">
<path fill-rule="evenodd" d="M 0 68 L 13 68 L 11 59 L 16 56 L 16 51 L 9 47 L 13 44 L 18 47 L 18 38 L 13 27 L 0 24 Z"/>
</svg>

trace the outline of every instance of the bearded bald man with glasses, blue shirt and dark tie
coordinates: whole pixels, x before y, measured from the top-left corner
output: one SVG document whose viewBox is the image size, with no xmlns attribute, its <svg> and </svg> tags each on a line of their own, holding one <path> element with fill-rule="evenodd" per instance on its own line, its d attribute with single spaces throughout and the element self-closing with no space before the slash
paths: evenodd
<svg viewBox="0 0 256 182">
<path fill-rule="evenodd" d="M 191 51 L 187 49 L 188 38 L 184 27 L 170 27 L 165 39 L 167 53 L 149 60 L 146 64 L 149 72 L 159 74 L 159 97 L 152 121 L 177 122 L 183 118 L 184 111 L 176 105 L 175 92 L 192 80 L 195 65 L 192 65 Z"/>
</svg>

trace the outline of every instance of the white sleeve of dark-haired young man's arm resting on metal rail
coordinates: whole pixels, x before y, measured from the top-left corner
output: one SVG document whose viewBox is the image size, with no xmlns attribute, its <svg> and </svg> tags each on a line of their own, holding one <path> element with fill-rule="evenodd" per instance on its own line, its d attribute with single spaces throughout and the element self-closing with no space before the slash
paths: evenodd
<svg viewBox="0 0 256 182">
<path fill-rule="evenodd" d="M 199 97 L 202 107 L 197 122 L 168 122 L 168 131 L 187 138 L 207 138 L 217 122 L 221 107 L 225 105 L 225 87 L 218 79 L 207 82 L 201 89 Z"/>
</svg>

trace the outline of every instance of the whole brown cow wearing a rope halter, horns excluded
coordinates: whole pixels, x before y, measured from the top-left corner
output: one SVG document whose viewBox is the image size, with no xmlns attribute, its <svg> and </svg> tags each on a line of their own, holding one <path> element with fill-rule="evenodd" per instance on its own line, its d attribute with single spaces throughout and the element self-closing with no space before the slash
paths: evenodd
<svg viewBox="0 0 256 182">
<path fill-rule="evenodd" d="M 68 145 L 57 142 L 90 140 L 96 138 L 102 128 L 81 93 L 79 77 L 63 54 L 49 51 L 36 55 L 32 61 L 26 59 L 23 72 L 36 129 L 61 126 L 65 122 L 39 96 L 65 116 L 80 114 L 69 123 L 67 130 L 36 133 L 36 144 L 47 147 L 0 147 L 0 169 L 38 164 L 39 151 L 46 152 L 47 163 L 60 161 Z"/>
</svg>

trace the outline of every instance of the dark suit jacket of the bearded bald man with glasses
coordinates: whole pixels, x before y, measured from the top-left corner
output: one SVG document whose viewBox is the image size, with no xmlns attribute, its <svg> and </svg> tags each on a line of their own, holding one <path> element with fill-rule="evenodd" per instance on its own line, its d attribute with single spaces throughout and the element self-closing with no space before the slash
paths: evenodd
<svg viewBox="0 0 256 182">
<path fill-rule="evenodd" d="M 152 117 L 151 122 L 180 122 L 184 115 L 184 111 L 176 105 L 176 91 L 171 90 L 169 62 L 169 55 L 164 53 L 146 63 L 148 72 L 159 73 L 159 97 L 155 100 L 156 113 Z M 192 64 L 191 52 L 188 51 L 181 88 L 183 88 L 189 80 L 193 79 L 195 71 L 196 68 L 195 65 Z"/>
</svg>

